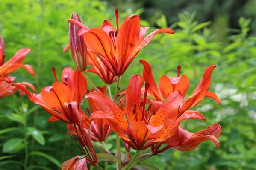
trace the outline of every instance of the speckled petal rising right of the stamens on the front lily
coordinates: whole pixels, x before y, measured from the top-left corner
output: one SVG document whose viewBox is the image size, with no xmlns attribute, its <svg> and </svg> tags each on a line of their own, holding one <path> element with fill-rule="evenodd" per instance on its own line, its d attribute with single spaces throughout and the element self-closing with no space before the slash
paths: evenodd
<svg viewBox="0 0 256 170">
<path fill-rule="evenodd" d="M 170 126 L 178 116 L 179 105 L 182 104 L 183 98 L 178 90 L 171 93 L 164 104 L 156 112 L 156 115 L 150 119 L 150 124 L 159 126 L 164 124 L 165 127 Z"/>
</svg>

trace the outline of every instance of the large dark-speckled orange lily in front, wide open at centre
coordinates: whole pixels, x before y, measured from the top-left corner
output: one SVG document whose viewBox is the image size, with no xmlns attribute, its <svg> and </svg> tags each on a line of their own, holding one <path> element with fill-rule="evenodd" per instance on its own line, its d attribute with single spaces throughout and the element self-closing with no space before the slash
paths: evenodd
<svg viewBox="0 0 256 170">
<path fill-rule="evenodd" d="M 129 81 L 126 90 L 126 115 L 110 98 L 102 95 L 101 92 L 90 92 L 85 98 L 91 100 L 97 109 L 91 115 L 91 120 L 103 119 L 111 129 L 130 147 L 135 150 L 144 150 L 147 147 L 178 134 L 178 125 L 185 119 L 205 120 L 203 115 L 195 111 L 184 112 L 185 116 L 177 119 L 179 106 L 183 98 L 178 90 L 168 95 L 162 106 L 156 110 L 149 105 L 147 89 L 145 84 L 144 98 L 141 98 L 141 87 L 144 79 L 141 75 L 134 75 Z M 171 109 L 170 109 L 171 108 Z M 147 142 L 148 141 L 148 142 Z M 176 139 L 178 144 L 179 138 Z"/>
</svg>

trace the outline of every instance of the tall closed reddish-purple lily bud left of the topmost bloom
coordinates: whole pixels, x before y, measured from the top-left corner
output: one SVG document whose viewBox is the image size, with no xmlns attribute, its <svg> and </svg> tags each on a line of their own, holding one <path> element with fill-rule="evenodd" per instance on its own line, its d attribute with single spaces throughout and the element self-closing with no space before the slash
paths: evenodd
<svg viewBox="0 0 256 170">
<path fill-rule="evenodd" d="M 77 12 L 73 12 L 71 19 L 81 22 Z M 79 36 L 78 32 L 81 28 L 74 23 L 69 23 L 69 44 L 71 56 L 79 69 L 85 71 L 87 67 L 87 47 L 83 36 Z"/>
</svg>

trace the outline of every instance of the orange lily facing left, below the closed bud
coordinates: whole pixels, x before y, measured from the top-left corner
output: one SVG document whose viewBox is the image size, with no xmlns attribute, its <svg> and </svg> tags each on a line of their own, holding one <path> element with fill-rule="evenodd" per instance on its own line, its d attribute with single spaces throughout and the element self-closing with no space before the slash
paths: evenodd
<svg viewBox="0 0 256 170">
<path fill-rule="evenodd" d="M 56 81 L 52 86 L 41 89 L 41 93 L 39 94 L 30 93 L 20 84 L 12 84 L 12 86 L 16 86 L 24 91 L 29 95 L 29 99 L 32 102 L 40 105 L 44 110 L 53 115 L 49 121 L 62 120 L 70 124 L 72 121 L 69 115 L 69 109 L 65 109 L 64 104 L 76 101 L 79 106 L 87 91 L 86 79 L 82 73 L 78 69 L 75 72 L 71 69 L 74 74 L 70 77 L 72 74 L 70 73 L 70 69 L 64 69 L 64 72 L 68 71 L 67 74 L 63 74 L 65 75 L 65 84 Z"/>
</svg>

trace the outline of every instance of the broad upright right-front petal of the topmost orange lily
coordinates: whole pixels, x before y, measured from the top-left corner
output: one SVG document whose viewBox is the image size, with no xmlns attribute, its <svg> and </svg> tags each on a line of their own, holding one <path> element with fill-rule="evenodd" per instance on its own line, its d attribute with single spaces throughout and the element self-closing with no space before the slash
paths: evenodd
<svg viewBox="0 0 256 170">
<path fill-rule="evenodd" d="M 135 56 L 135 50 L 139 42 L 140 19 L 138 15 L 127 17 L 118 31 L 116 40 L 116 56 L 118 62 L 118 73 L 123 73 Z"/>
</svg>

